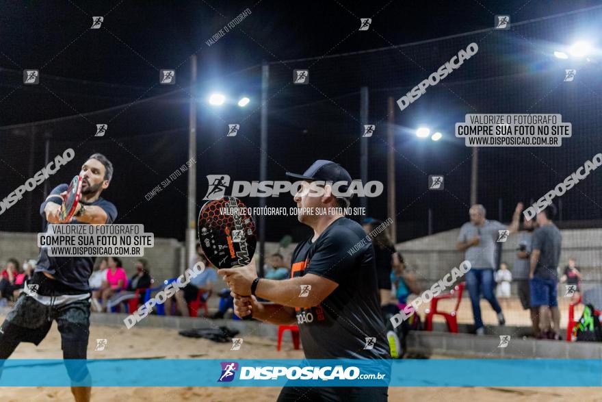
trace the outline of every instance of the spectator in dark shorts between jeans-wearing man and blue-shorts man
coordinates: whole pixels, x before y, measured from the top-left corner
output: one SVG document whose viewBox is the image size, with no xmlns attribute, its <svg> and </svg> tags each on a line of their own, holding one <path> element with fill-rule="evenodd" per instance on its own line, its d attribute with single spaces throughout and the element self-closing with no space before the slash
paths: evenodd
<svg viewBox="0 0 602 402">
<path fill-rule="evenodd" d="M 516 249 L 516 261 L 512 266 L 512 279 L 516 282 L 516 290 L 519 292 L 519 300 L 523 310 L 529 310 L 531 324 L 533 327 L 533 336 L 539 336 L 539 307 L 531 305 L 531 290 L 529 289 L 529 271 L 531 271 L 530 259 L 533 242 L 533 232 L 536 228 L 536 221 L 530 219 L 527 221 L 523 217 L 523 231 L 519 234 L 519 247 Z"/>
</svg>

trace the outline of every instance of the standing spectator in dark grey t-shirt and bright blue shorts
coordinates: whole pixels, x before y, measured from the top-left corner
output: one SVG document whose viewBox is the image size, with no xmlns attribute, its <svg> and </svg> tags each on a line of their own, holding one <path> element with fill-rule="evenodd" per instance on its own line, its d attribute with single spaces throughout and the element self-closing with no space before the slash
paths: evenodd
<svg viewBox="0 0 602 402">
<path fill-rule="evenodd" d="M 560 340 L 557 289 L 562 234 L 552 221 L 555 212 L 550 204 L 536 216 L 539 227 L 533 233 L 529 279 L 531 305 L 539 308 L 540 338 Z"/>
</svg>

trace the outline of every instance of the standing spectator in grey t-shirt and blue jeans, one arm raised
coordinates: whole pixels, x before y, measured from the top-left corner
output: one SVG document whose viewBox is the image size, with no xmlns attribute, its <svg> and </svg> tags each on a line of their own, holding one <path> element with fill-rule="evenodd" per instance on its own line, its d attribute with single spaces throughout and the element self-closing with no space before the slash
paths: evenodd
<svg viewBox="0 0 602 402">
<path fill-rule="evenodd" d="M 519 229 L 519 218 L 522 210 L 523 203 L 518 203 L 514 210 L 514 216 L 512 216 L 512 223 L 506 227 L 498 221 L 489 221 L 486 219 L 486 210 L 483 205 L 475 204 L 469 210 L 470 222 L 464 223 L 460 228 L 456 249 L 464 251 L 464 260 L 468 260 L 471 263 L 471 269 L 466 274 L 466 284 L 473 307 L 475 332 L 477 335 L 485 334 L 481 318 L 481 294 L 483 294 L 483 297 L 497 313 L 499 325 L 506 324 L 501 307 L 493 293 L 495 244 L 501 236 L 500 231 L 508 230 L 506 232 L 506 235 L 508 235 Z"/>
</svg>

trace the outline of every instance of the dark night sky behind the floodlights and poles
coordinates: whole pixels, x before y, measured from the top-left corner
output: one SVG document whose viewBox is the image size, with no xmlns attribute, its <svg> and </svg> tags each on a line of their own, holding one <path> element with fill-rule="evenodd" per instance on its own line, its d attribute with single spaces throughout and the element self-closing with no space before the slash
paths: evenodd
<svg viewBox="0 0 602 402">
<path fill-rule="evenodd" d="M 95 151 L 116 167 L 104 194 L 116 203 L 119 223 L 144 223 L 155 236 L 183 239 L 186 178 L 150 201 L 144 195 L 187 160 L 190 88 L 189 55 L 198 56 L 198 199 L 205 175 L 224 173 L 237 180 L 259 179 L 259 93 L 261 62 L 270 63 L 269 179 L 303 171 L 315 159 L 330 159 L 359 177 L 359 95 L 370 90 L 369 116 L 381 123 L 370 143 L 369 179 L 386 181 L 384 136 L 387 97 L 397 99 L 436 71 L 458 50 L 477 42 L 479 53 L 445 81 L 395 111 L 398 238 L 423 236 L 427 210 L 434 230 L 467 219 L 471 149 L 454 138 L 454 123 L 466 113 L 560 113 L 573 123 L 573 138 L 558 149 L 491 148 L 480 158 L 480 201 L 493 218 L 508 220 L 514 203 L 537 199 L 599 151 L 602 85 L 600 64 L 559 64 L 554 47 L 579 36 L 600 38 L 601 1 L 12 1 L 0 12 L 0 198 L 44 165 L 50 155 L 76 150 L 74 164 Z M 228 21 L 251 14 L 208 47 L 205 42 Z M 508 32 L 473 35 L 348 55 L 452 36 L 493 25 L 495 14 L 512 21 L 538 20 Z M 105 16 L 101 29 L 89 29 L 92 16 Z M 358 32 L 359 18 L 373 18 Z M 598 41 L 598 47 L 602 43 Z M 598 60 L 602 60 L 600 55 Z M 287 60 L 317 58 L 290 62 Z M 570 60 L 569 60 L 570 61 Z M 577 68 L 574 85 L 559 72 Z M 24 68 L 39 68 L 41 84 L 23 86 Z M 176 85 L 159 86 L 160 68 L 176 68 Z M 293 86 L 293 68 L 309 68 L 311 85 Z M 444 85 L 445 84 L 445 85 Z M 205 103 L 211 90 L 247 95 L 244 110 Z M 194 92 L 192 92 L 194 93 Z M 126 107 L 120 106 L 126 105 Z M 98 110 L 105 112 L 90 113 Z M 90 114 L 88 114 L 90 113 Z M 70 117 L 69 117 L 70 116 Z M 46 123 L 58 118 L 58 121 Z M 90 138 L 96 123 L 109 123 L 104 138 Z M 224 138 L 227 123 L 240 123 L 236 138 Z M 406 131 L 418 124 L 441 129 L 444 140 L 419 142 Z M 77 173 L 64 168 L 51 188 Z M 446 190 L 426 192 L 429 174 L 444 174 Z M 590 177 L 563 198 L 564 218 L 601 218 L 599 178 Z M 584 197 L 586 195 L 586 197 Z M 36 231 L 40 189 L 0 215 L 0 230 Z M 257 200 L 244 200 L 257 205 Z M 292 206 L 290 198 L 270 206 Z M 358 205 L 354 200 L 354 205 Z M 369 214 L 387 218 L 386 196 L 369 201 Z M 170 214 L 166 218 L 166 214 Z M 296 218 L 268 218 L 267 240 L 304 233 Z"/>
</svg>

